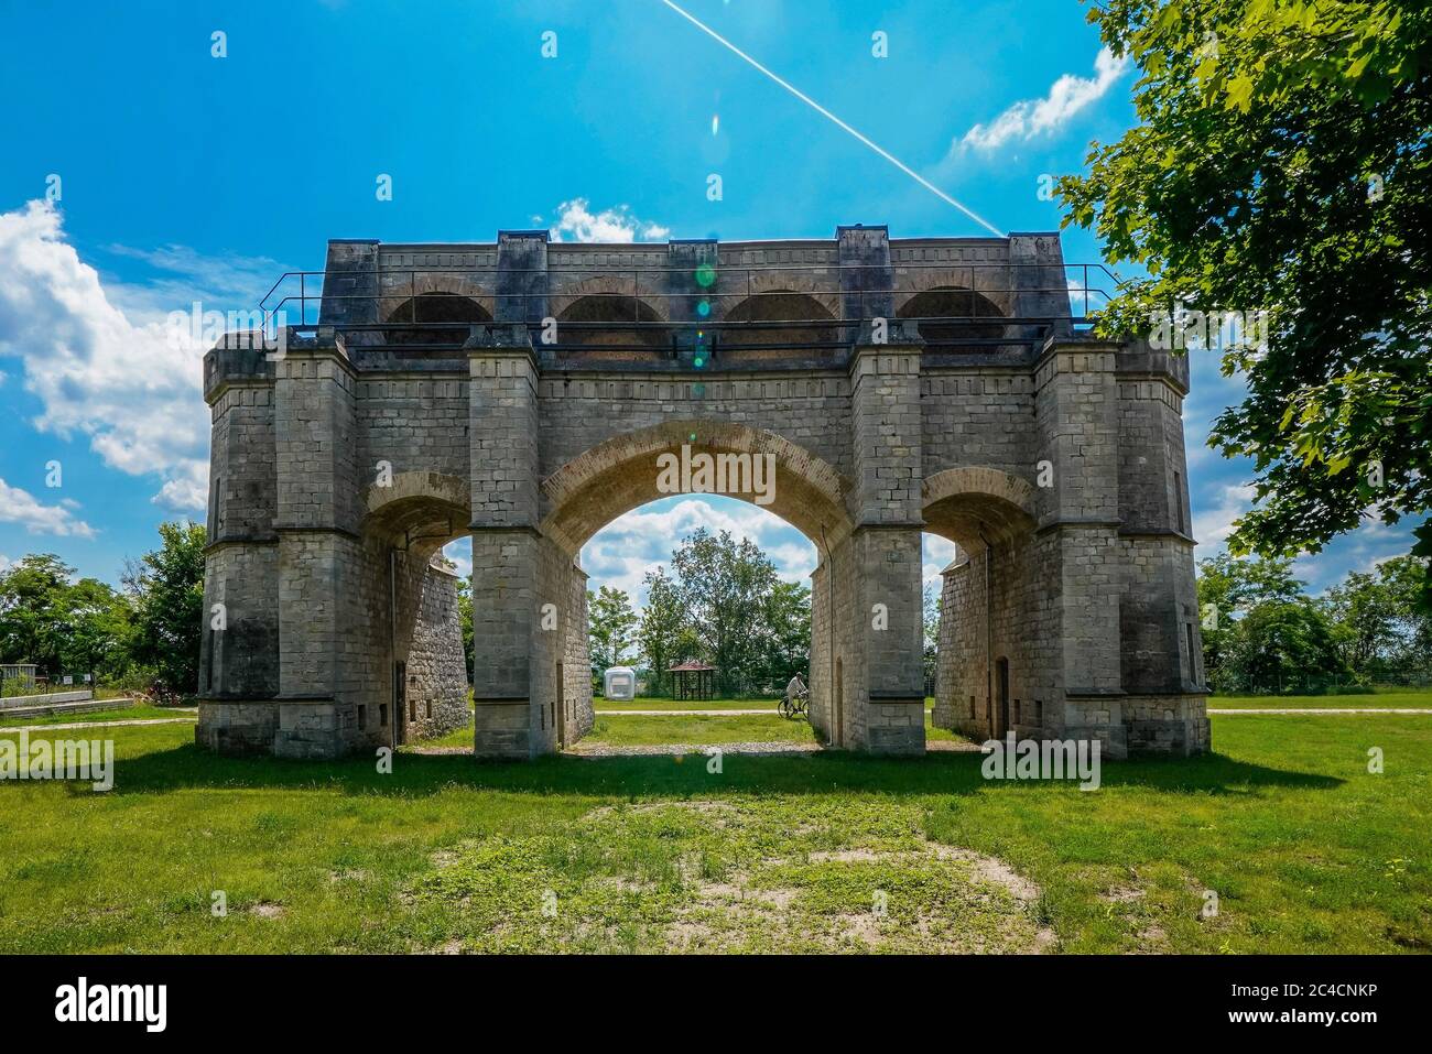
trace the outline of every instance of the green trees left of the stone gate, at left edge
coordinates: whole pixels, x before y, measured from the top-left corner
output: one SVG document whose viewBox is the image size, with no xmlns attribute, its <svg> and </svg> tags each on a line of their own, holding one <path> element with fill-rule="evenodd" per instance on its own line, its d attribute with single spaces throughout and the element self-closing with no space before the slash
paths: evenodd
<svg viewBox="0 0 1432 1054">
<path fill-rule="evenodd" d="M 0 663 L 34 663 L 52 683 L 90 673 L 97 685 L 196 692 L 203 547 L 200 524 L 160 524 L 159 548 L 126 561 L 119 589 L 74 579 L 53 553 L 23 557 L 0 571 Z"/>
</svg>

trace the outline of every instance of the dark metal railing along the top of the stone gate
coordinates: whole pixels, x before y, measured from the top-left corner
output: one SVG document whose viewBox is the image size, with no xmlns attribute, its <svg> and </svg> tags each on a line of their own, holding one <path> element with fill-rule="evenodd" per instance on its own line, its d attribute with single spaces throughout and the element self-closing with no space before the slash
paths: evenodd
<svg viewBox="0 0 1432 1054">
<path fill-rule="evenodd" d="M 1035 269 L 1035 284 L 1021 284 L 1015 281 L 998 281 L 998 272 L 1012 278 L 1021 271 Z M 580 271 L 523 271 L 504 269 L 498 272 L 494 266 L 428 266 L 428 268 L 374 268 L 368 271 L 289 271 L 274 282 L 263 299 L 259 311 L 265 329 L 288 322 L 289 311 L 296 306 L 299 329 L 318 325 L 321 321 L 334 325 L 338 331 L 352 334 L 367 334 L 361 342 L 369 348 L 385 348 L 397 352 L 424 352 L 451 349 L 455 342 L 461 342 L 473 325 L 493 324 L 480 301 L 493 304 L 501 302 L 505 308 L 503 315 L 516 315 L 516 324 L 528 325 L 534 334 L 546 319 L 534 318 L 534 304 L 546 309 L 553 301 L 564 302 L 567 314 L 579 301 L 596 301 L 603 306 L 597 311 L 583 314 L 606 315 L 606 318 L 563 318 L 556 316 L 563 341 L 543 344 L 554 352 L 561 351 L 590 351 L 600 347 L 607 351 L 653 351 L 660 349 L 672 357 L 683 347 L 690 347 L 693 339 L 706 339 L 713 348 L 740 348 L 742 351 L 773 351 L 773 349 L 829 349 L 832 347 L 849 347 L 862 325 L 866 325 L 874 312 L 869 311 L 872 299 L 876 304 L 892 304 L 896 298 L 905 298 L 906 305 L 921 295 L 944 295 L 944 306 L 958 308 L 959 301 L 968 308 L 964 314 L 944 311 L 941 314 L 899 314 L 891 321 L 914 324 L 931 344 L 948 348 L 978 349 L 984 347 L 1002 347 L 1010 344 L 1028 344 L 1038 339 L 1041 331 L 1047 331 L 1055 324 L 1071 328 L 1081 328 L 1090 322 L 1091 308 L 1108 302 L 1121 282 L 1118 276 L 1103 264 L 899 264 L 892 266 L 896 276 L 908 275 L 912 271 L 938 272 L 939 278 L 932 281 L 949 282 L 952 278 L 965 278 L 965 285 L 929 285 L 915 282 L 888 288 L 841 288 L 842 272 L 869 272 L 872 268 L 863 265 L 776 265 L 776 266 L 712 266 L 707 274 L 696 274 L 695 288 L 670 289 L 666 276 L 672 274 L 693 275 L 693 268 L 587 268 Z M 977 281 L 978 272 L 995 272 L 991 275 L 995 282 Z M 1061 285 L 1038 284 L 1050 282 L 1051 272 L 1057 272 L 1063 279 Z M 498 291 L 498 274 L 513 285 L 521 286 L 523 275 L 544 275 L 550 278 L 574 278 L 577 285 L 570 289 L 541 289 Z M 733 281 L 733 274 L 739 275 Z M 756 288 L 756 275 L 790 275 L 792 282 L 799 288 L 769 288 L 770 279 L 760 284 L 766 288 Z M 442 282 L 448 289 L 432 289 L 431 282 L 420 281 L 431 275 L 463 275 L 463 282 Z M 805 281 L 795 281 L 798 275 L 806 275 Z M 332 292 L 328 279 L 371 276 L 377 292 Z M 398 281 L 394 281 L 401 276 Z M 581 281 L 591 278 L 616 278 L 619 285 L 627 288 L 589 291 L 580 286 Z M 811 278 L 825 281 L 811 281 Z M 1095 284 L 1091 284 L 1090 278 Z M 405 279 L 405 281 L 402 281 Z M 292 286 L 296 284 L 296 289 Z M 316 285 L 316 288 L 315 288 Z M 451 286 L 457 289 L 451 289 Z M 325 292 L 326 291 L 326 292 Z M 855 316 L 838 318 L 821 304 L 822 299 L 836 299 L 843 312 L 849 308 L 849 296 L 858 296 Z M 420 304 L 431 308 L 444 305 L 448 298 L 461 298 L 468 305 L 457 305 L 468 314 L 463 318 L 420 318 Z M 759 318 L 759 305 L 772 302 L 775 298 L 808 298 L 819 311 L 803 312 L 792 318 Z M 876 299 L 878 298 L 878 299 Z M 1048 305 L 1048 298 L 1058 298 L 1054 304 L 1064 309 L 1053 309 L 1040 314 L 1007 315 L 997 301 L 1017 302 L 1024 299 L 1025 305 L 1038 304 L 1041 299 Z M 664 312 L 656 311 L 652 305 L 663 304 Z M 740 311 L 739 305 L 752 305 Z M 371 311 L 355 311 L 354 306 Z M 695 309 L 693 309 L 695 305 Z M 385 311 L 387 306 L 387 311 Z M 448 305 L 444 305 L 448 306 Z M 1042 305 L 1041 305 L 1042 306 Z M 1075 314 L 1075 306 L 1078 314 Z M 326 308 L 326 311 L 325 311 Z M 673 312 L 672 308 L 676 308 Z M 736 308 L 739 318 L 732 318 Z M 404 318 L 404 309 L 408 315 Z M 387 318 L 384 315 L 387 314 Z M 434 311 L 432 314 L 453 314 L 448 311 Z M 672 318 L 672 315 L 679 315 Z M 682 316 L 690 315 L 693 316 Z M 326 319 L 321 319 L 326 315 Z M 377 322 L 354 322 L 351 318 L 379 318 Z M 514 324 L 507 319 L 497 319 L 498 324 Z M 723 334 L 739 331 L 739 339 L 723 339 Z M 998 332 L 994 332 L 998 331 Z M 783 339 L 760 344 L 750 339 L 749 334 L 788 334 Z M 577 335 L 576 342 L 567 341 L 566 335 Z M 613 342 L 604 339 L 593 345 L 591 334 L 630 335 L 630 342 Z M 803 334 L 805 339 L 795 339 Z M 422 341 L 422 335 L 431 335 L 431 341 Z M 813 337 L 812 337 L 813 335 Z M 445 339 L 444 339 L 445 338 Z"/>
</svg>

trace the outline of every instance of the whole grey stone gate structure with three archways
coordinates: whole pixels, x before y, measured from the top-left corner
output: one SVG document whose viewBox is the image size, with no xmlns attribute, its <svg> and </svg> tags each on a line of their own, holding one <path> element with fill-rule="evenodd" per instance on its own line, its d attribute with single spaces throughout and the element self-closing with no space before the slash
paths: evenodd
<svg viewBox="0 0 1432 1054">
<path fill-rule="evenodd" d="M 832 746 L 924 750 L 928 530 L 958 546 L 944 574 L 939 725 L 1097 738 L 1116 758 L 1207 749 L 1187 364 L 1073 332 L 1055 235 L 892 242 L 884 228 L 841 228 L 831 242 L 672 242 L 664 269 L 657 252 L 586 246 L 567 274 L 541 232 L 421 252 L 334 242 L 321 327 L 292 328 L 284 355 L 221 342 L 205 357 L 205 604 L 228 619 L 205 634 L 200 743 L 326 758 L 397 736 L 400 715 L 414 715 L 395 666 L 441 637 L 425 636 L 424 610 L 441 610 L 451 587 L 431 556 L 465 533 L 474 753 L 558 750 L 591 725 L 581 544 L 660 495 L 662 455 L 745 455 L 770 458 L 768 507 L 816 543 L 812 723 Z M 461 268 L 428 292 L 464 295 L 437 286 L 465 288 L 481 271 L 491 324 L 438 355 L 348 339 L 387 318 L 375 275 L 418 259 Z M 992 274 L 1020 264 L 1008 312 L 1024 324 L 998 355 L 944 354 L 901 328 L 876 342 L 875 318 L 964 285 L 951 276 L 965 261 Z M 709 362 L 690 342 L 634 359 L 534 342 L 553 308 L 619 288 L 637 266 L 653 275 L 643 301 L 659 316 L 639 311 L 637 332 L 687 339 L 710 289 L 748 281 L 808 298 L 800 318 L 818 327 L 848 328 L 819 355 L 778 339 Z M 755 305 L 717 301 L 732 305 L 717 311 L 723 332 L 772 342 L 745 328 Z M 735 491 L 755 500 L 755 477 Z M 995 722 L 997 679 L 1010 706 Z M 385 705 L 388 726 L 374 720 Z"/>
</svg>

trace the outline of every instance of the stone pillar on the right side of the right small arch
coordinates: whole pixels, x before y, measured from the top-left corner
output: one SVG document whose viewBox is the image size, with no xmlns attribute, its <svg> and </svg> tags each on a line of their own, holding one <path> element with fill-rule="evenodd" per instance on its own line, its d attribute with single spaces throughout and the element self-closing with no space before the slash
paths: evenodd
<svg viewBox="0 0 1432 1054">
<path fill-rule="evenodd" d="M 1120 676 L 1117 345 L 1053 344 L 1035 367 L 1041 488 L 1032 556 L 1047 569 L 1064 732 L 1097 736 L 1106 756 L 1127 753 Z M 1038 470 L 1045 465 L 1037 465 Z M 1057 725 L 1051 725 L 1057 727 Z"/>
</svg>

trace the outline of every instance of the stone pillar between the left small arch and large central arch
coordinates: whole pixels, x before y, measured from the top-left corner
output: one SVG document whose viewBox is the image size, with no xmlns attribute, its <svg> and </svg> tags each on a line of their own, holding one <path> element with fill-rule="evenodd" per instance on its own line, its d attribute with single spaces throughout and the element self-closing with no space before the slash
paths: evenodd
<svg viewBox="0 0 1432 1054">
<path fill-rule="evenodd" d="M 547 749 L 534 697 L 543 538 L 537 530 L 537 359 L 526 327 L 468 341 L 473 697 L 480 758 Z M 551 597 L 557 603 L 560 597 Z"/>
</svg>

